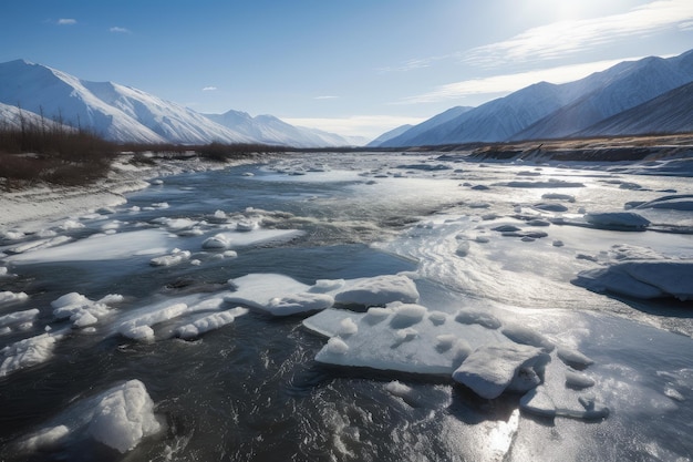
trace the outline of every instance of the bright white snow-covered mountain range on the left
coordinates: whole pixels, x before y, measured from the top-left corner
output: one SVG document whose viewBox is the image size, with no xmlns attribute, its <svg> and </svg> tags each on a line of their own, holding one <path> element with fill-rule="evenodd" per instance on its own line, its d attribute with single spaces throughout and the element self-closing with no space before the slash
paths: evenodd
<svg viewBox="0 0 693 462">
<path fill-rule="evenodd" d="M 215 122 L 180 104 L 113 82 L 89 82 L 23 60 L 0 63 L 0 103 L 89 127 L 107 140 L 141 143 L 263 143 L 296 147 L 351 144 L 272 116 Z M 228 113 L 227 113 L 228 114 Z"/>
</svg>

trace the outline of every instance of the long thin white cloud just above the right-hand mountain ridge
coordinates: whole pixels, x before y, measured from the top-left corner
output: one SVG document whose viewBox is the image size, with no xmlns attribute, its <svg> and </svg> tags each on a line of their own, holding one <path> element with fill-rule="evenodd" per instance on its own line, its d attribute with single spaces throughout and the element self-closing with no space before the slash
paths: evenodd
<svg viewBox="0 0 693 462">
<path fill-rule="evenodd" d="M 639 58 L 627 58 L 622 60 L 596 61 L 514 74 L 494 75 L 483 79 L 470 79 L 441 85 L 428 93 L 404 99 L 399 104 L 434 103 L 445 100 L 457 100 L 475 94 L 510 93 L 541 81 L 566 83 L 582 79 L 593 72 L 603 71 L 619 62 L 638 59 Z"/>
</svg>

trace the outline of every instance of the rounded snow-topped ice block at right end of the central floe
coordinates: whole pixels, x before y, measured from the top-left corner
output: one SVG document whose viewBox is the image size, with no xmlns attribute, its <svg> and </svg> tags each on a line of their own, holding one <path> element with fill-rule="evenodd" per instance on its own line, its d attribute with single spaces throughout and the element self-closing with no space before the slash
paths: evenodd
<svg viewBox="0 0 693 462">
<path fill-rule="evenodd" d="M 382 306 L 392 301 L 415 304 L 418 291 L 412 279 L 402 275 L 385 275 L 352 279 L 339 291 L 334 301 L 342 305 Z"/>
</svg>

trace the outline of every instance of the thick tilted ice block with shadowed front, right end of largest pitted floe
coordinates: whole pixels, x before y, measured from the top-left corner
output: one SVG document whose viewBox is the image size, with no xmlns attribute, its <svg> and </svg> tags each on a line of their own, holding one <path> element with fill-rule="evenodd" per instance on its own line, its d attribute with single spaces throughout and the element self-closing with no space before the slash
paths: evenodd
<svg viewBox="0 0 693 462">
<path fill-rule="evenodd" d="M 482 398 L 494 399 L 504 391 L 528 391 L 541 381 L 551 357 L 540 348 L 517 343 L 479 347 L 453 372 L 453 380 Z"/>
</svg>

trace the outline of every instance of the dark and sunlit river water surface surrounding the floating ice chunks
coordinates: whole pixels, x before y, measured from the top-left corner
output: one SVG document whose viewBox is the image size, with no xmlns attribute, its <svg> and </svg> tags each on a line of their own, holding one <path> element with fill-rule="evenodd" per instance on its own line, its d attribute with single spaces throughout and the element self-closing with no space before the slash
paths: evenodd
<svg viewBox="0 0 693 462">
<path fill-rule="evenodd" d="M 511 183 L 527 178 L 547 184 Z M 620 187 L 631 183 L 639 187 Z M 614 245 L 693 257 L 693 235 L 682 232 L 693 228 L 691 213 L 652 211 L 650 220 L 664 232 L 548 223 L 577 217 L 581 207 L 622 211 L 672 192 L 693 193 L 690 178 L 312 154 L 165 177 L 115 211 L 4 239 L 0 290 L 29 298 L 0 305 L 0 316 L 39 314 L 29 325 L 8 324 L 0 347 L 46 327 L 61 337 L 45 360 L 0 377 L 0 460 L 686 460 L 693 455 L 691 302 L 607 297 L 570 281 Z M 571 198 L 547 199 L 547 193 Z M 547 202 L 565 209 L 538 206 Z M 492 230 L 526 223 L 528 213 L 547 220 L 537 222 L 547 237 Z M 205 248 L 205 239 L 239 224 L 259 229 L 237 232 L 236 256 Z M 18 251 L 56 236 L 72 240 Z M 174 248 L 190 254 L 177 265 L 151 264 Z M 250 309 L 193 340 L 174 333 L 192 314 L 155 324 L 153 341 L 118 333 L 135 315 L 209 300 L 245 275 L 279 274 L 310 286 L 403 271 L 415 275 L 421 305 L 494 310 L 579 347 L 594 360 L 589 372 L 609 417 L 544 419 L 521 412 L 513 393 L 485 400 L 445 378 L 318 363 L 325 339 L 303 327 L 308 314 Z M 79 329 L 51 307 L 69 292 L 123 299 L 95 326 Z M 94 441 L 82 420 L 90 399 L 133 379 L 146 387 L 161 430 L 120 452 Z M 393 392 L 395 380 L 406 393 Z M 22 443 L 58 425 L 70 433 L 39 449 Z"/>
</svg>

